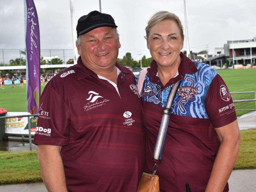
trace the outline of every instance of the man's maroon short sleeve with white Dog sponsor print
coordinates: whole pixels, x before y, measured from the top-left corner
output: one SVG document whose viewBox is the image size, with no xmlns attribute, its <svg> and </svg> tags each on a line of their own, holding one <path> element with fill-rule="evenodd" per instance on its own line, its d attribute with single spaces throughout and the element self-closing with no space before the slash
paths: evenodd
<svg viewBox="0 0 256 192">
<path fill-rule="evenodd" d="M 69 144 L 70 111 L 59 93 L 45 87 L 38 112 L 34 144 L 65 146 Z"/>
</svg>

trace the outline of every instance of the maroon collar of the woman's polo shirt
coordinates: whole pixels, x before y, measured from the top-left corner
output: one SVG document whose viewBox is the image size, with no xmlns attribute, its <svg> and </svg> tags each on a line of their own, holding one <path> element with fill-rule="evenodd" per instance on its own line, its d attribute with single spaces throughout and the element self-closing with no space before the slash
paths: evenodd
<svg viewBox="0 0 256 192">
<path fill-rule="evenodd" d="M 170 79 L 169 82 L 165 85 L 168 87 L 179 80 L 185 78 L 185 74 L 193 74 L 198 71 L 193 61 L 191 61 L 188 57 L 184 55 L 183 52 L 180 52 L 180 57 L 182 58 L 179 68 L 178 68 L 178 75 L 174 78 Z M 150 68 L 147 69 L 147 75 L 149 76 L 149 81 L 159 84 L 159 78 L 157 76 L 157 64 L 155 60 L 150 63 Z"/>
</svg>

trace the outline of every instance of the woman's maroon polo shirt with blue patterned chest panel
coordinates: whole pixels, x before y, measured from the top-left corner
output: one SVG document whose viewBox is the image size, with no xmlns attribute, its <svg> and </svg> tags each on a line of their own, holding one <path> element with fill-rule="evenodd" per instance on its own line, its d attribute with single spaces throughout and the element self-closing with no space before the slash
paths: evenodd
<svg viewBox="0 0 256 192">
<path fill-rule="evenodd" d="M 220 141 L 214 128 L 236 118 L 233 101 L 225 82 L 209 65 L 192 62 L 183 53 L 178 76 L 165 86 L 157 77 L 153 60 L 142 88 L 142 121 L 146 128 L 145 172 L 152 173 L 153 152 L 162 110 L 171 87 L 180 82 L 172 102 L 162 162 L 157 165 L 160 191 L 205 191 Z M 138 79 L 138 77 L 136 77 Z M 218 128 L 217 128 L 218 129 Z M 228 184 L 225 192 L 228 191 Z"/>
</svg>

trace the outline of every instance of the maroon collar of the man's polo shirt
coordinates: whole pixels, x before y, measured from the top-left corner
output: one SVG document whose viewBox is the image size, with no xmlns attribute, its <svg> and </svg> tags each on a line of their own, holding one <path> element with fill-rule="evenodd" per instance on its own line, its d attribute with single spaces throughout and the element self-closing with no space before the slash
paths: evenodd
<svg viewBox="0 0 256 192">
<path fill-rule="evenodd" d="M 117 61 L 115 63 L 115 66 L 119 69 L 118 70 L 118 74 L 120 73 L 120 71 L 122 73 L 130 73 L 130 72 L 132 72 L 131 70 L 129 70 L 126 67 L 121 67 Z M 78 80 L 87 78 L 90 75 L 92 77 L 98 78 L 98 75 L 96 73 L 94 73 L 92 70 L 88 69 L 85 65 L 83 65 L 81 56 L 78 57 L 77 64 L 74 65 L 74 71 L 77 74 L 77 79 Z"/>
</svg>

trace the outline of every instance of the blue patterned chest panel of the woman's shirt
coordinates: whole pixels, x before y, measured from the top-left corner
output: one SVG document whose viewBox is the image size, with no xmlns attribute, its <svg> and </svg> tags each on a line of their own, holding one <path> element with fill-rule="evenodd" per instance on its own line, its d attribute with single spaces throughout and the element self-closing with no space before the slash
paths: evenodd
<svg viewBox="0 0 256 192">
<path fill-rule="evenodd" d="M 194 74 L 185 74 L 185 78 L 182 80 L 174 97 L 171 113 L 208 119 L 204 100 L 212 80 L 218 73 L 205 63 L 194 61 L 194 65 L 198 71 Z M 137 80 L 138 76 L 136 77 Z M 161 86 L 150 82 L 149 76 L 146 76 L 141 93 L 142 100 L 164 108 L 172 86 L 161 91 Z"/>
</svg>

